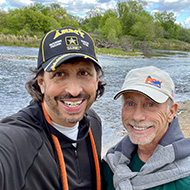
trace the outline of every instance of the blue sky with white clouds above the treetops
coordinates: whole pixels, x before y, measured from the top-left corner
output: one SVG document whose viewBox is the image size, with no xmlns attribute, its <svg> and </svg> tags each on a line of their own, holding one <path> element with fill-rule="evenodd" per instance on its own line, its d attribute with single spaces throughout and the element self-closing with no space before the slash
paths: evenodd
<svg viewBox="0 0 190 190">
<path fill-rule="evenodd" d="M 120 0 L 123 2 L 124 0 Z M 127 0 L 125 0 L 127 1 Z M 142 0 L 138 0 L 142 1 Z M 150 14 L 156 11 L 173 12 L 176 23 L 184 28 L 190 29 L 190 0 L 143 0 L 147 2 L 145 10 Z M 0 9 L 9 10 L 28 6 L 38 2 L 43 5 L 58 3 L 67 13 L 73 16 L 84 17 L 91 9 L 101 7 L 103 10 L 112 9 L 117 6 L 118 0 L 0 0 Z"/>
</svg>

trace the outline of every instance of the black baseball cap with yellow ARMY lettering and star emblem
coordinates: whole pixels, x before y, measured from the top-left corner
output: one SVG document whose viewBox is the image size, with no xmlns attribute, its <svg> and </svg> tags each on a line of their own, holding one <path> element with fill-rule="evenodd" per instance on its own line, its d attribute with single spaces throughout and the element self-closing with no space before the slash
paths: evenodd
<svg viewBox="0 0 190 190">
<path fill-rule="evenodd" d="M 71 58 L 90 59 L 100 68 L 91 36 L 73 27 L 63 27 L 45 34 L 41 40 L 37 68 L 54 71 Z"/>
</svg>

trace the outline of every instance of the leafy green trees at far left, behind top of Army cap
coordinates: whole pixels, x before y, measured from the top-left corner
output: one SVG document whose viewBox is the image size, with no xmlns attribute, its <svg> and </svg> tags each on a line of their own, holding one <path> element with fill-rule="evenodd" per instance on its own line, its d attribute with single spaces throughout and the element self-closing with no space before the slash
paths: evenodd
<svg viewBox="0 0 190 190">
<path fill-rule="evenodd" d="M 59 4 L 45 7 L 34 3 L 28 7 L 0 12 L 0 32 L 13 35 L 40 36 L 52 29 L 64 26 L 78 27 L 75 17 L 67 14 Z"/>
</svg>

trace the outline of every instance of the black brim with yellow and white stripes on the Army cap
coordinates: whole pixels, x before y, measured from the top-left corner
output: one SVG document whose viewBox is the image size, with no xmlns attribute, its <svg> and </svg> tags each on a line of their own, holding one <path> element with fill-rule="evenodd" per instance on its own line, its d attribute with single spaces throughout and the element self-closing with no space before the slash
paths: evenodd
<svg viewBox="0 0 190 190">
<path fill-rule="evenodd" d="M 66 62 L 69 59 L 72 58 L 84 58 L 84 59 L 90 59 L 92 62 L 94 62 L 97 66 L 100 66 L 100 64 L 98 63 L 98 61 L 88 55 L 85 54 L 77 54 L 77 53 L 73 53 L 73 54 L 64 54 L 64 55 L 58 55 L 56 57 L 53 57 L 52 59 L 49 59 L 48 61 L 46 61 L 45 63 L 42 64 L 42 68 L 46 71 L 46 72 L 52 72 L 54 71 L 57 67 L 59 67 L 62 63 Z"/>
</svg>

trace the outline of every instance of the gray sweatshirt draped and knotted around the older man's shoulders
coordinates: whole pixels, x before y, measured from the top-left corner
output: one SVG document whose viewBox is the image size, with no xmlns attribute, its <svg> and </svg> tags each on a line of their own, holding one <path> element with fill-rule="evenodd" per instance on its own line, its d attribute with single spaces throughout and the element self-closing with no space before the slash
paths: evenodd
<svg viewBox="0 0 190 190">
<path fill-rule="evenodd" d="M 127 135 L 103 158 L 116 190 L 148 189 L 190 176 L 190 138 L 184 137 L 177 117 L 141 170 L 132 172 L 128 165 L 136 148 Z"/>
</svg>

